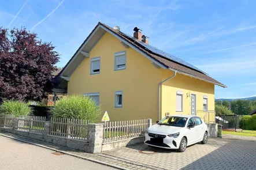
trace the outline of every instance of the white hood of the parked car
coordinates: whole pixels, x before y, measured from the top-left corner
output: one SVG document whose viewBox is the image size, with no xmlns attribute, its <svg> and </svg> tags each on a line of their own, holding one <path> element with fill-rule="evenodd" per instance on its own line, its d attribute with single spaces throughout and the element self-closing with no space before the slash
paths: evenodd
<svg viewBox="0 0 256 170">
<path fill-rule="evenodd" d="M 184 127 L 155 124 L 153 126 L 150 126 L 149 129 L 147 129 L 147 131 L 149 131 L 149 133 L 174 134 L 180 132 L 183 129 Z"/>
</svg>

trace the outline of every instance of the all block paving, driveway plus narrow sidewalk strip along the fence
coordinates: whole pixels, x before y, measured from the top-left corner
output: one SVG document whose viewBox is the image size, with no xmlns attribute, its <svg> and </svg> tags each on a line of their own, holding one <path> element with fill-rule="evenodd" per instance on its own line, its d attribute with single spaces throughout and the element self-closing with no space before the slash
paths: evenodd
<svg viewBox="0 0 256 170">
<path fill-rule="evenodd" d="M 222 139 L 210 138 L 206 145 L 195 144 L 185 152 L 153 148 L 144 144 L 114 149 L 101 154 L 79 152 L 50 143 L 31 140 L 13 134 L 13 137 L 34 141 L 83 158 L 92 158 L 123 169 L 256 169 L 256 140 L 254 138 L 222 135 Z M 153 150 L 155 153 L 141 153 Z"/>
</svg>

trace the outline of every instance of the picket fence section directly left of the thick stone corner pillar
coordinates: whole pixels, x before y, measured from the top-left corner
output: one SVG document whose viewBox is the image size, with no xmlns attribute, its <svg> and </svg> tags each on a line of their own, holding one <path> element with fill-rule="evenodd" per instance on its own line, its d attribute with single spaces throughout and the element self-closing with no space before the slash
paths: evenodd
<svg viewBox="0 0 256 170">
<path fill-rule="evenodd" d="M 51 135 L 86 140 L 88 120 L 51 118 Z"/>
</svg>

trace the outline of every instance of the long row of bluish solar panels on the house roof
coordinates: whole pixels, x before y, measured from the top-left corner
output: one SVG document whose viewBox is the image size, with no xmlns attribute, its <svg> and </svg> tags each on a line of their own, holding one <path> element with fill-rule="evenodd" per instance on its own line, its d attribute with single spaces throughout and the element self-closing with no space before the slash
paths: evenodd
<svg viewBox="0 0 256 170">
<path fill-rule="evenodd" d="M 180 59 L 180 58 L 177 58 L 176 56 L 170 55 L 170 54 L 168 54 L 167 52 L 164 52 L 164 51 L 162 51 L 162 50 L 159 50 L 158 48 L 155 48 L 155 47 L 153 47 L 153 46 L 150 46 L 149 44 L 143 43 L 142 41 L 139 41 L 139 40 L 133 38 L 132 36 L 127 35 L 126 33 L 124 33 L 124 35 L 125 35 L 125 36 L 128 36 L 129 38 L 131 38 L 131 39 L 133 39 L 133 40 L 136 40 L 140 45 L 142 45 L 143 47 L 147 48 L 148 50 L 154 52 L 155 54 L 164 56 L 165 58 L 168 58 L 168 59 L 170 59 L 171 61 L 180 63 L 181 65 L 184 65 L 184 66 L 190 67 L 191 69 L 194 69 L 194 70 L 197 70 L 197 71 L 199 71 L 199 72 L 205 73 L 204 71 L 198 69 L 197 67 L 191 65 L 190 63 L 185 62 L 183 59 Z M 206 73 L 205 73 L 205 74 L 206 74 Z"/>
</svg>

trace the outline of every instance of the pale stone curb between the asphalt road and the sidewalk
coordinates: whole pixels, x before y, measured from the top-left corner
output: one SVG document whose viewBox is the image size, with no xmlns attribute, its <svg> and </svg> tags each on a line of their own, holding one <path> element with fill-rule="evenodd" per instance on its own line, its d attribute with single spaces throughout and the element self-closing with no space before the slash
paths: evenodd
<svg viewBox="0 0 256 170">
<path fill-rule="evenodd" d="M 23 140 L 23 139 L 19 139 L 19 138 L 16 138 L 16 137 L 11 137 L 11 136 L 9 136 L 9 135 L 5 135 L 5 134 L 2 134 L 2 133 L 0 133 L 0 135 L 3 136 L 3 137 L 15 139 L 15 140 L 17 140 L 17 141 L 29 143 L 29 144 L 31 144 L 31 145 L 36 145 L 36 146 L 39 146 L 39 147 L 42 147 L 42 148 L 50 149 L 50 150 L 53 150 L 53 151 L 55 151 L 55 152 L 64 153 L 64 154 L 67 154 L 67 155 L 69 155 L 69 156 L 74 156 L 74 157 L 77 157 L 77 158 L 82 158 L 83 160 L 88 160 L 88 161 L 92 161 L 92 162 L 94 162 L 94 163 L 99 163 L 99 164 L 102 164 L 102 165 L 107 165 L 108 167 L 113 167 L 113 168 L 123 169 L 123 170 L 129 170 L 128 168 L 120 167 L 120 166 L 118 166 L 118 165 L 108 164 L 108 163 L 105 163 L 105 162 L 102 162 L 102 161 L 95 160 L 95 159 L 93 159 L 93 158 L 87 158 L 87 157 L 83 157 L 83 156 L 80 156 L 80 155 L 77 155 L 77 154 L 73 154 L 73 153 L 69 153 L 69 152 L 62 151 L 62 150 L 50 148 L 50 147 L 48 147 L 48 146 L 40 145 L 40 144 L 37 144 L 37 143 L 34 143 L 34 142 L 29 142 L 29 141 L 26 141 L 26 140 Z"/>
</svg>

